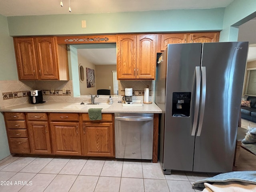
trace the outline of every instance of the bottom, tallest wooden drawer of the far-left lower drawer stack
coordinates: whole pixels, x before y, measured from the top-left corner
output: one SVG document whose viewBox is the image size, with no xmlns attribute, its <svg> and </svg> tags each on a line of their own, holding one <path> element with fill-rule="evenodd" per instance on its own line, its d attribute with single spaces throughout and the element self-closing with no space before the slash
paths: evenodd
<svg viewBox="0 0 256 192">
<path fill-rule="evenodd" d="M 10 138 L 11 153 L 30 153 L 28 138 Z"/>
</svg>

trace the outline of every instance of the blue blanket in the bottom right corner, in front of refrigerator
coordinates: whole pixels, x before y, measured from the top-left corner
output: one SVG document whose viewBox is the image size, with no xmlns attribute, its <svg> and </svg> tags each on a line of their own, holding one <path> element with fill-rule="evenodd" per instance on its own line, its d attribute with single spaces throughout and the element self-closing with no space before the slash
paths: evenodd
<svg viewBox="0 0 256 192">
<path fill-rule="evenodd" d="M 192 188 L 197 190 L 203 190 L 204 183 L 215 182 L 229 182 L 229 181 L 242 181 L 251 184 L 256 184 L 256 171 L 234 171 L 228 173 L 218 174 L 214 177 L 206 178 L 203 180 L 195 181 L 192 183 Z"/>
</svg>

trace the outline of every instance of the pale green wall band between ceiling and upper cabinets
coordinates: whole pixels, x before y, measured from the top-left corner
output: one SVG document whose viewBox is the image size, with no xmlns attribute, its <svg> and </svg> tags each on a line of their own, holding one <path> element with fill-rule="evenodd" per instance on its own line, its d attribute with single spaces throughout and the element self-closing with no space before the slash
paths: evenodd
<svg viewBox="0 0 256 192">
<path fill-rule="evenodd" d="M 222 30 L 224 8 L 8 17 L 10 36 Z M 81 21 L 86 20 L 86 28 Z"/>
</svg>

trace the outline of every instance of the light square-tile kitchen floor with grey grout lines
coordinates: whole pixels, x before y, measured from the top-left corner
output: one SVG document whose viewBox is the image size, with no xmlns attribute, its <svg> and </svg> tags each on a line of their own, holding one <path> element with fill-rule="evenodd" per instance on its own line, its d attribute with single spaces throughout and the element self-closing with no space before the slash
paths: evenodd
<svg viewBox="0 0 256 192">
<path fill-rule="evenodd" d="M 9 156 L 0 161 L 0 192 L 199 192 L 191 184 L 211 176 L 164 175 L 160 163 L 141 160 Z"/>
</svg>

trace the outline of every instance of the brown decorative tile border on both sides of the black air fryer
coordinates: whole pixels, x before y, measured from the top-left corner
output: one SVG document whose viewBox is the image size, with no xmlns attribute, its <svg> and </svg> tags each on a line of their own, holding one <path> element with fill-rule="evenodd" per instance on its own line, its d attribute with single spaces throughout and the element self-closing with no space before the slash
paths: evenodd
<svg viewBox="0 0 256 192">
<path fill-rule="evenodd" d="M 42 90 L 43 95 L 57 95 L 57 96 L 71 96 L 71 91 L 66 90 L 66 92 L 62 92 L 62 90 L 54 90 L 54 92 L 51 92 L 50 90 Z M 17 92 L 5 92 L 2 93 L 3 99 L 14 99 L 14 98 L 20 98 L 20 97 L 28 97 L 30 96 L 30 91 L 17 91 Z"/>
</svg>

